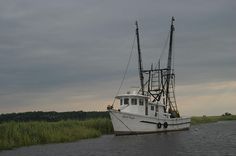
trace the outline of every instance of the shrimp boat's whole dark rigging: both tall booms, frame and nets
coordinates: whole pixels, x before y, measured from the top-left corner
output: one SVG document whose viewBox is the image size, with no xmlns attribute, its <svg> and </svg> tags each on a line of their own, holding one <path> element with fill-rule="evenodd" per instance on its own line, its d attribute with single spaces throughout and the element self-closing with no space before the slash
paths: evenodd
<svg viewBox="0 0 236 156">
<path fill-rule="evenodd" d="M 173 44 L 173 32 L 174 22 L 175 19 L 172 17 L 171 19 L 171 27 L 170 27 L 170 40 L 169 40 L 169 52 L 168 52 L 168 62 L 167 67 L 163 69 L 151 69 L 150 70 L 143 70 L 142 67 L 142 57 L 141 57 L 141 49 L 139 43 L 139 29 L 138 29 L 138 22 L 136 21 L 136 36 L 137 36 L 137 49 L 138 49 L 138 61 L 139 61 L 139 78 L 141 84 L 141 94 L 144 95 L 144 76 L 143 74 L 148 74 L 148 80 L 145 84 L 147 84 L 147 94 L 152 96 L 152 101 L 160 101 L 161 97 L 165 95 L 165 99 L 163 98 L 163 103 L 165 104 L 165 112 L 169 112 L 172 114 L 172 117 L 179 117 L 179 112 L 177 109 L 177 104 L 175 100 L 175 93 L 174 93 L 174 82 L 173 79 L 175 74 L 172 72 L 172 44 Z M 153 87 L 153 77 L 158 77 L 156 86 L 158 88 Z M 172 94 L 172 95 L 171 95 Z M 168 109 L 168 110 L 167 110 Z"/>
</svg>

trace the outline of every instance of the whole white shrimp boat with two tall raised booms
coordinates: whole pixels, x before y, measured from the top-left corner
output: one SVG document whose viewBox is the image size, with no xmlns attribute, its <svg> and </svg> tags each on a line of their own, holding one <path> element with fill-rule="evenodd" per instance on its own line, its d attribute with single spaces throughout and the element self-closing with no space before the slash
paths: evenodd
<svg viewBox="0 0 236 156">
<path fill-rule="evenodd" d="M 172 43 L 174 17 L 171 19 L 167 66 L 144 70 L 139 43 L 139 27 L 136 21 L 136 41 L 140 89 L 117 95 L 119 109 L 108 106 L 115 135 L 157 133 L 186 130 L 190 128 L 191 118 L 179 114 L 175 99 L 175 74 L 172 67 Z"/>
</svg>

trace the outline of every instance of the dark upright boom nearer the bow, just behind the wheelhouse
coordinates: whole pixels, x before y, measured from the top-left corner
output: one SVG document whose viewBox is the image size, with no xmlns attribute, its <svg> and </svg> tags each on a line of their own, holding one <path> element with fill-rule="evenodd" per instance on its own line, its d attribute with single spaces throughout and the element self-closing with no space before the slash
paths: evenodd
<svg viewBox="0 0 236 156">
<path fill-rule="evenodd" d="M 140 78 L 140 86 L 141 86 L 141 93 L 144 95 L 144 77 L 143 77 L 143 66 L 142 66 L 142 56 L 141 56 L 141 49 L 139 43 L 139 30 L 138 30 L 138 21 L 135 22 L 136 24 L 136 37 L 137 37 L 137 46 L 138 46 L 138 63 L 139 63 L 139 78 Z"/>
</svg>

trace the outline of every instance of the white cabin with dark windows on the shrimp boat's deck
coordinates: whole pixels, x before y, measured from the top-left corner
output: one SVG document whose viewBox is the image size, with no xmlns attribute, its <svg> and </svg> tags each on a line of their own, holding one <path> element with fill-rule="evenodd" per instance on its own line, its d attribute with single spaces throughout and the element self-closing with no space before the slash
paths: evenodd
<svg viewBox="0 0 236 156">
<path fill-rule="evenodd" d="M 146 115 L 150 117 L 169 117 L 169 113 L 164 112 L 164 105 L 150 102 L 149 96 L 137 94 L 136 92 L 116 96 L 120 100 L 120 111 L 130 114 Z"/>
</svg>

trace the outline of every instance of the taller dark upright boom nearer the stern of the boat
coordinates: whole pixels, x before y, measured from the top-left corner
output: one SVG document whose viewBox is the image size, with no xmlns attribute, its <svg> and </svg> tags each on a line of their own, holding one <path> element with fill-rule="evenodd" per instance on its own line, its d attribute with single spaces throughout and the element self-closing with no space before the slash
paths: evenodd
<svg viewBox="0 0 236 156">
<path fill-rule="evenodd" d="M 169 53 L 168 53 L 168 62 L 167 62 L 166 105 L 167 105 L 168 101 L 170 102 L 169 86 L 170 86 L 170 79 L 171 79 L 173 32 L 175 30 L 174 24 L 173 24 L 174 21 L 175 21 L 175 19 L 174 19 L 174 17 L 172 17 L 172 19 L 171 19 L 171 27 L 170 27 Z"/>
</svg>

